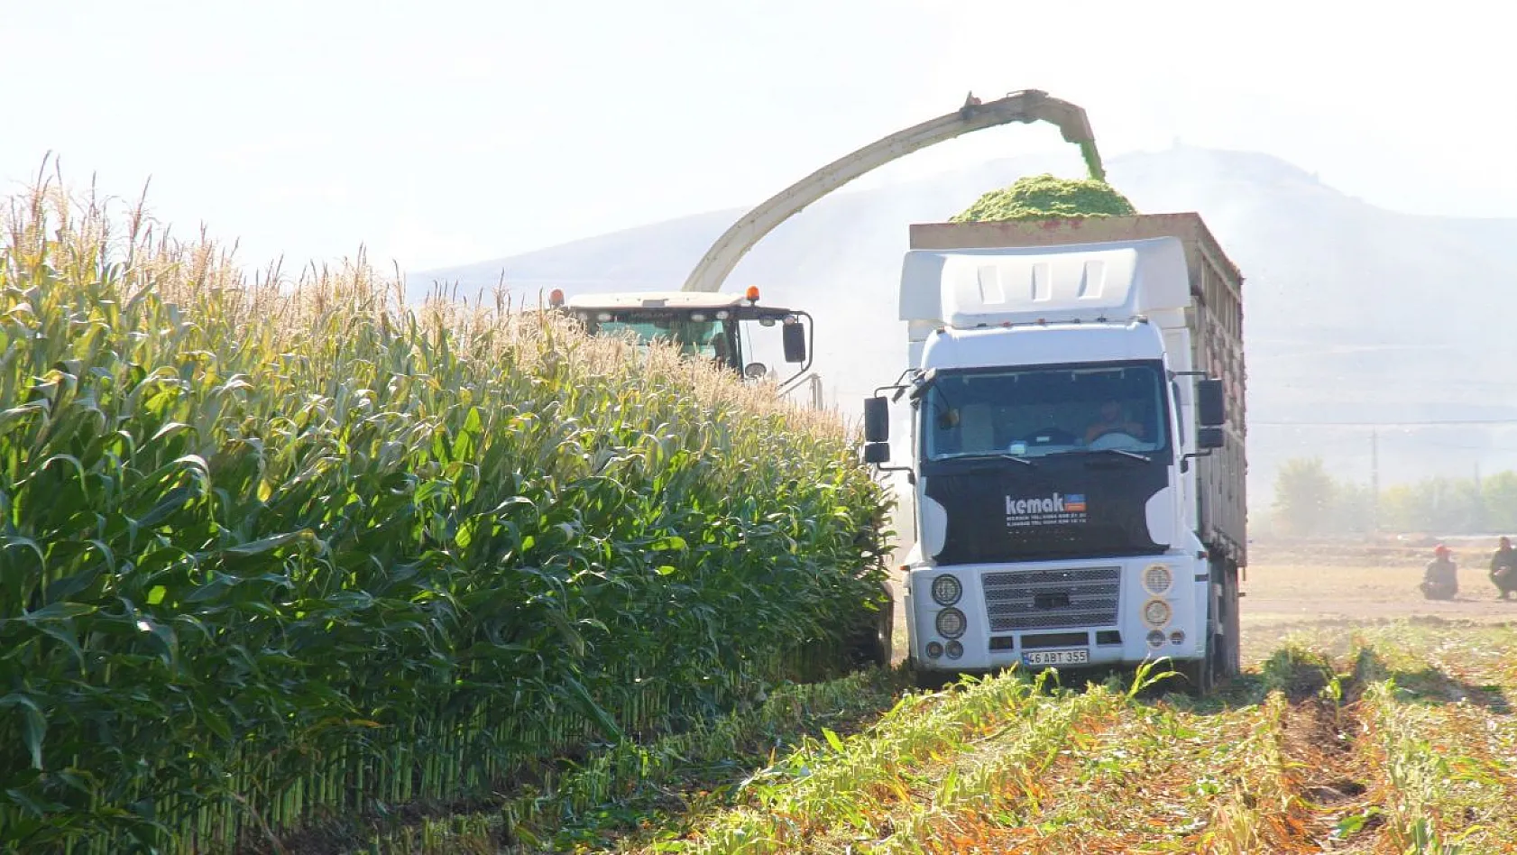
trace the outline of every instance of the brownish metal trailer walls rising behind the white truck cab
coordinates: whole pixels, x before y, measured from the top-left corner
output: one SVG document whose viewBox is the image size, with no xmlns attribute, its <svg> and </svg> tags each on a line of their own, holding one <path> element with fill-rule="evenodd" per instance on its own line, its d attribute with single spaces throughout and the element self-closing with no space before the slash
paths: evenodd
<svg viewBox="0 0 1517 855">
<path fill-rule="evenodd" d="M 1227 443 L 1195 461 L 1200 535 L 1247 565 L 1247 370 L 1242 349 L 1242 274 L 1194 212 L 1074 217 L 1003 223 L 918 223 L 910 249 L 995 249 L 1179 238 L 1191 279 L 1191 361 L 1227 391 Z"/>
</svg>

